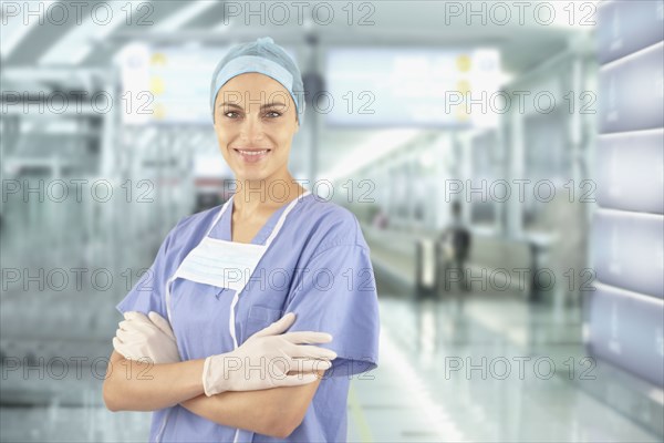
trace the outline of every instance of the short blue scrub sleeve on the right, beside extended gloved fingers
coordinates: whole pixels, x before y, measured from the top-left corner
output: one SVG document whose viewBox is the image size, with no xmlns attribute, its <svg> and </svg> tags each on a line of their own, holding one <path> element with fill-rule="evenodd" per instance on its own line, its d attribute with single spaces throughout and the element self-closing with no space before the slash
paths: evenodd
<svg viewBox="0 0 664 443">
<path fill-rule="evenodd" d="M 370 371 L 378 362 L 378 302 L 369 248 L 338 245 L 295 270 L 297 281 L 286 312 L 295 313 L 291 331 L 332 334 L 322 344 L 338 358 L 325 377 Z"/>
</svg>

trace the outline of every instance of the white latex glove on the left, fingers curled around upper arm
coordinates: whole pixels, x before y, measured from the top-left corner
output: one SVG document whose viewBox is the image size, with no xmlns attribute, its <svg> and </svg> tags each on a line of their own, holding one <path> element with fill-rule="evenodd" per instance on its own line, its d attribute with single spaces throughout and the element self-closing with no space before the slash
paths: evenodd
<svg viewBox="0 0 664 443">
<path fill-rule="evenodd" d="M 152 363 L 176 363 L 180 361 L 175 334 L 168 321 L 157 312 L 147 317 L 142 312 L 125 312 L 118 323 L 113 348 L 127 360 L 148 360 Z"/>
</svg>

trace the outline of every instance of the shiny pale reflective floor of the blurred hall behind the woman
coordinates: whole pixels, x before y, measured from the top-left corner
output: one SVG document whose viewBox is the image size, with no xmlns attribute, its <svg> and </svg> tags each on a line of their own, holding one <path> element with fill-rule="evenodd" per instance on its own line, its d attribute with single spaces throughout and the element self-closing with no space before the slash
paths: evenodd
<svg viewBox="0 0 664 443">
<path fill-rule="evenodd" d="M 583 389 L 611 381 L 584 359 L 578 309 L 382 296 L 381 320 L 380 368 L 352 382 L 349 441 L 662 441 Z M 149 413 L 107 412 L 101 380 L 62 391 L 39 408 L 3 400 L 0 440 L 147 440 Z"/>
</svg>

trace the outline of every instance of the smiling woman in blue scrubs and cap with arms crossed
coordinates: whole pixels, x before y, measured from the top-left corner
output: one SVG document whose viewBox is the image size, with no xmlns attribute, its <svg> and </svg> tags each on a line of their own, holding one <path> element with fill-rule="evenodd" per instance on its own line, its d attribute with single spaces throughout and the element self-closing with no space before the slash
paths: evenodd
<svg viewBox="0 0 664 443">
<path fill-rule="evenodd" d="M 237 45 L 210 106 L 237 192 L 180 220 L 117 306 L 104 401 L 155 411 L 151 441 L 344 441 L 350 375 L 377 363 L 377 297 L 355 217 L 288 171 L 300 71 L 270 38 Z"/>
</svg>

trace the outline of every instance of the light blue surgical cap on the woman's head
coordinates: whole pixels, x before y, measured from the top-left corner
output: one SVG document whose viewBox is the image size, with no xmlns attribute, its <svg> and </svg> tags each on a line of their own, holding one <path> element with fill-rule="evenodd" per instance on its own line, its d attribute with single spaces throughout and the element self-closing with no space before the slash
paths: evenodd
<svg viewBox="0 0 664 443">
<path fill-rule="evenodd" d="M 210 85 L 210 110 L 215 119 L 215 100 L 221 86 L 236 75 L 258 72 L 268 75 L 286 87 L 295 103 L 298 122 L 302 125 L 304 116 L 304 85 L 302 74 L 288 53 L 269 37 L 255 42 L 238 44 L 221 59 Z"/>
</svg>

